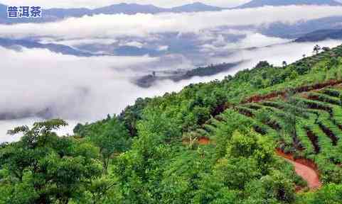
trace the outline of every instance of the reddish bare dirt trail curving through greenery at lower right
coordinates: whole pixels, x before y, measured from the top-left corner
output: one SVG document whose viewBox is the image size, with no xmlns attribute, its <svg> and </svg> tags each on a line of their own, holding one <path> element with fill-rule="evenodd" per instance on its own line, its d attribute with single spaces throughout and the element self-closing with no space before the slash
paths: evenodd
<svg viewBox="0 0 342 204">
<path fill-rule="evenodd" d="M 287 162 L 294 165 L 294 171 L 301 176 L 307 183 L 311 190 L 321 188 L 322 183 L 319 181 L 319 173 L 314 162 L 308 159 L 294 159 L 290 154 L 284 154 L 277 150 L 277 155 L 283 157 Z"/>
</svg>

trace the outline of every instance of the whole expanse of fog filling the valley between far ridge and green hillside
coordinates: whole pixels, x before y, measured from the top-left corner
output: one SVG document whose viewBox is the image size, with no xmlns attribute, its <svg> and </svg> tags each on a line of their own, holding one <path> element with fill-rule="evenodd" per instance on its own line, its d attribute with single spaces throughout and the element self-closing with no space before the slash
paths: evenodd
<svg viewBox="0 0 342 204">
<path fill-rule="evenodd" d="M 311 56 L 316 44 L 341 45 L 342 38 L 294 42 L 301 33 L 314 31 L 301 26 L 306 22 L 334 18 L 328 28 L 342 27 L 336 23 L 341 13 L 342 6 L 264 6 L 0 24 L 0 143 L 18 140 L 6 135 L 18 125 L 63 118 L 70 125 L 61 133 L 71 134 L 77 123 L 119 114 L 139 97 L 221 80 L 262 60 L 282 66 Z M 285 35 L 275 25 L 297 33 Z M 173 75 L 220 63 L 237 65 L 210 76 L 172 80 Z M 153 74 L 158 80 L 151 86 L 137 85 Z"/>
</svg>

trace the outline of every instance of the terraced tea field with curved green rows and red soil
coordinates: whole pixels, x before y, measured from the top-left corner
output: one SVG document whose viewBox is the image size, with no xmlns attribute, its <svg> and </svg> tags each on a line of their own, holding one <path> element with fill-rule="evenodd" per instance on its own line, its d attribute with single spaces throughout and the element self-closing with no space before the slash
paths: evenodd
<svg viewBox="0 0 342 204">
<path fill-rule="evenodd" d="M 282 152 L 313 161 L 323 182 L 339 181 L 341 176 L 337 172 L 341 172 L 342 163 L 341 81 L 302 86 L 292 91 L 295 94 L 279 91 L 248 98 L 189 135 L 207 138 L 215 144 L 215 131 L 228 125 L 228 113 L 234 111 L 250 121 L 256 132 L 272 137 Z"/>
</svg>

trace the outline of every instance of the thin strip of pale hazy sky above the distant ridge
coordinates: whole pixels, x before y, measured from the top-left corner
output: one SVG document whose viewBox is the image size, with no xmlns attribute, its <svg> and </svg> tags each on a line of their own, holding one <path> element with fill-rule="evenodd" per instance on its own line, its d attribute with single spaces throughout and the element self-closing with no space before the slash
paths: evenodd
<svg viewBox="0 0 342 204">
<path fill-rule="evenodd" d="M 107 6 L 110 4 L 119 3 L 137 3 L 137 4 L 154 4 L 155 6 L 171 7 L 179 6 L 183 4 L 191 4 L 194 2 L 202 2 L 213 6 L 232 7 L 244 4 L 250 0 L 0 0 L 1 4 L 20 4 L 20 5 L 39 5 L 44 8 L 58 7 L 58 8 L 70 8 L 70 7 L 87 7 L 95 8 L 100 6 Z"/>
</svg>

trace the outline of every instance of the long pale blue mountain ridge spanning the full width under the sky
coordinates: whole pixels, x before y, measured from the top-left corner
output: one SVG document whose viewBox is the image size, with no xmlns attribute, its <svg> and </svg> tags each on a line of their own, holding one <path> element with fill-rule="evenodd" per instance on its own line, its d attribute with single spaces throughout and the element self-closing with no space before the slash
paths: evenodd
<svg viewBox="0 0 342 204">
<path fill-rule="evenodd" d="M 223 11 L 228 9 L 243 9 L 256 8 L 261 6 L 289 6 L 289 5 L 329 5 L 342 6 L 341 3 L 335 0 L 252 0 L 246 4 L 242 4 L 233 8 L 224 8 L 218 6 L 210 6 L 201 2 L 194 2 L 192 4 L 184 4 L 182 6 L 174 6 L 172 8 L 163 8 L 154 6 L 152 4 L 112 4 L 109 6 L 102 6 L 99 8 L 48 8 L 43 11 L 43 18 L 7 18 L 7 6 L 0 4 L 0 24 L 13 23 L 46 23 L 61 21 L 65 18 L 82 16 L 93 16 L 99 14 L 119 14 L 134 15 L 137 13 L 191 13 L 204 11 Z"/>
</svg>

